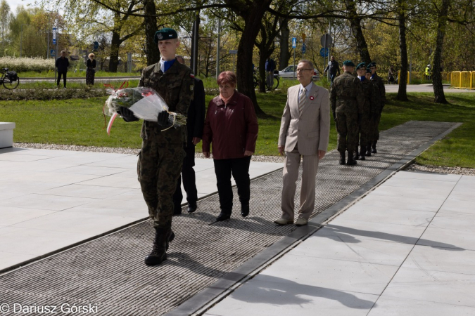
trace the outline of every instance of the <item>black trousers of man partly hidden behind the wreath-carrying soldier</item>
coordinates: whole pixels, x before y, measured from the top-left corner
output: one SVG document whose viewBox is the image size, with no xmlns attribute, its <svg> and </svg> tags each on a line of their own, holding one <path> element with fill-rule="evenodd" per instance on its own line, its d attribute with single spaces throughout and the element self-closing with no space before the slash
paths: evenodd
<svg viewBox="0 0 475 316">
<path fill-rule="evenodd" d="M 175 209 L 182 208 L 182 178 L 183 187 L 186 192 L 186 201 L 188 204 L 194 205 L 198 199 L 198 191 L 196 190 L 196 176 L 193 169 L 195 165 L 195 147 L 189 146 L 184 147 L 183 149 L 186 152 L 186 157 L 183 159 L 182 176 L 178 178 L 177 189 L 173 195 L 173 204 L 175 205 Z"/>
</svg>

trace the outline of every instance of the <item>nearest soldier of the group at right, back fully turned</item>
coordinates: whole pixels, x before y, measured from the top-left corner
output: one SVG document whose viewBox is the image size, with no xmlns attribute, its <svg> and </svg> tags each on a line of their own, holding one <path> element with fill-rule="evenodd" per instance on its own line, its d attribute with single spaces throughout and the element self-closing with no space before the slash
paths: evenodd
<svg viewBox="0 0 475 316">
<path fill-rule="evenodd" d="M 353 153 L 357 150 L 359 121 L 362 119 L 365 95 L 360 79 L 353 76 L 355 64 L 351 60 L 343 62 L 343 74 L 336 77 L 330 89 L 330 103 L 336 131 L 340 164 L 345 164 L 348 151 L 349 166 L 355 165 Z"/>
</svg>

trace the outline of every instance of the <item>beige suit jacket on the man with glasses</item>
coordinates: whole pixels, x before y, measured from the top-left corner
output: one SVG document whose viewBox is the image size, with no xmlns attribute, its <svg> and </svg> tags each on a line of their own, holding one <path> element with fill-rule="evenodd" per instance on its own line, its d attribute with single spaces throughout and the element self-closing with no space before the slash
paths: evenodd
<svg viewBox="0 0 475 316">
<path fill-rule="evenodd" d="M 315 83 L 302 112 L 298 110 L 300 84 L 287 90 L 287 103 L 282 114 L 279 145 L 291 152 L 298 143 L 302 155 L 316 155 L 318 150 L 327 151 L 330 136 L 330 103 L 326 88 Z"/>
</svg>

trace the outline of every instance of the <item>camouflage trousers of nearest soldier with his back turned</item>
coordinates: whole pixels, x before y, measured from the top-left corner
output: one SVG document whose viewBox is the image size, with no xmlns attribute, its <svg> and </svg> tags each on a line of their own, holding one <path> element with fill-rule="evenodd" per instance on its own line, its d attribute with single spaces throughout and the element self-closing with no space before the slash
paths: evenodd
<svg viewBox="0 0 475 316">
<path fill-rule="evenodd" d="M 358 114 L 336 113 L 336 131 L 338 132 L 338 152 L 355 152 L 358 143 Z"/>
</svg>

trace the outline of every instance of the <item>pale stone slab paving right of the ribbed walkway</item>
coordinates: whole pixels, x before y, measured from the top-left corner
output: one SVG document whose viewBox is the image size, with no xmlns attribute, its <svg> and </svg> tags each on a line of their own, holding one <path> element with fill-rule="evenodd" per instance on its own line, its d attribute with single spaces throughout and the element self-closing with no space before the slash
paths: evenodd
<svg viewBox="0 0 475 316">
<path fill-rule="evenodd" d="M 398 172 L 205 315 L 475 315 L 473 192 Z"/>
</svg>

